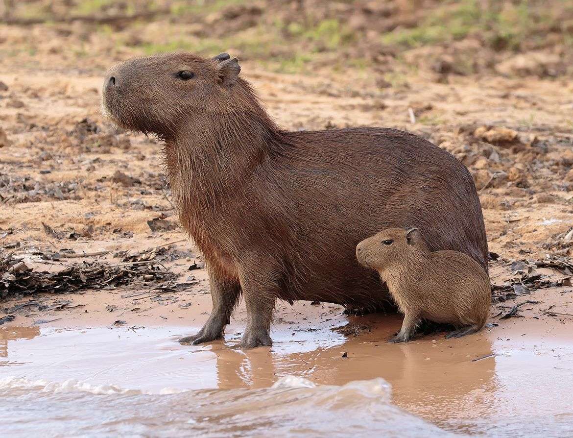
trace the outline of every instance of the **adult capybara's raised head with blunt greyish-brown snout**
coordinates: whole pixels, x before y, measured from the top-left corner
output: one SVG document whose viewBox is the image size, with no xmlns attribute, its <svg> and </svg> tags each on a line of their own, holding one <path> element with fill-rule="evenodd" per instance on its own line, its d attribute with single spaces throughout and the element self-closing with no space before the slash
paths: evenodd
<svg viewBox="0 0 573 438">
<path fill-rule="evenodd" d="M 121 127 L 168 138 L 192 118 L 248 108 L 252 93 L 240 71 L 237 58 L 227 53 L 134 58 L 105 75 L 103 110 Z"/>
</svg>

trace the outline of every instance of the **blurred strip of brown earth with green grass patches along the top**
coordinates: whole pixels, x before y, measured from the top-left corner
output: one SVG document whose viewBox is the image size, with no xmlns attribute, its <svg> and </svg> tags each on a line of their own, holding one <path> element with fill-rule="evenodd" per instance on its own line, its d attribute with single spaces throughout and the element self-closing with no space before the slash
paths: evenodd
<svg viewBox="0 0 573 438">
<path fill-rule="evenodd" d="M 0 0 L 6 61 L 229 50 L 276 72 L 401 69 L 557 77 L 571 70 L 569 0 Z M 527 54 L 527 57 L 523 55 Z M 18 56 L 18 58 L 14 58 Z M 87 66 L 85 66 L 87 67 Z"/>
</svg>

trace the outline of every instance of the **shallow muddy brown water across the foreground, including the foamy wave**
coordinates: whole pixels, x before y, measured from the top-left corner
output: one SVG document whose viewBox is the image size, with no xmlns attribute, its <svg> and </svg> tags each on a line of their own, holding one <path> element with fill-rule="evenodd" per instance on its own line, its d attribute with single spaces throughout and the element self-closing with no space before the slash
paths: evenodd
<svg viewBox="0 0 573 438">
<path fill-rule="evenodd" d="M 282 312 L 274 346 L 250 351 L 233 349 L 237 321 L 224 341 L 198 347 L 176 342 L 194 330 L 177 325 L 2 326 L 0 428 L 11 436 L 40 428 L 48 436 L 573 436 L 565 324 L 523 318 L 462 339 L 389 345 L 398 317 L 336 313 L 311 323 L 305 312 Z M 340 326 L 346 334 L 332 330 Z"/>
</svg>

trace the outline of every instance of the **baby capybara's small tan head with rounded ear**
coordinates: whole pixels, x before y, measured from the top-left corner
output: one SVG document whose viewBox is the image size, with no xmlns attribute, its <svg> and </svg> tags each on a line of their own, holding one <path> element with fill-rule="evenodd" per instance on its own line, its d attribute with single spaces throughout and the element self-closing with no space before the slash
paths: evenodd
<svg viewBox="0 0 573 438">
<path fill-rule="evenodd" d="M 356 245 L 356 259 L 367 268 L 382 271 L 404 257 L 419 257 L 426 245 L 417 228 L 388 228 Z"/>
</svg>

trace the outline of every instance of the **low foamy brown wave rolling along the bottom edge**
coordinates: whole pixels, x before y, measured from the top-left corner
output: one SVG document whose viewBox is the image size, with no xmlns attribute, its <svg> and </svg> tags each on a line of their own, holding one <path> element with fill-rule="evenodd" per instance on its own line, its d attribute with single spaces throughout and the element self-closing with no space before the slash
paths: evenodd
<svg viewBox="0 0 573 438">
<path fill-rule="evenodd" d="M 8 377 L 0 429 L 29 436 L 444 436 L 392 405 L 382 378 L 316 385 L 297 376 L 266 389 L 162 390 Z"/>
</svg>

